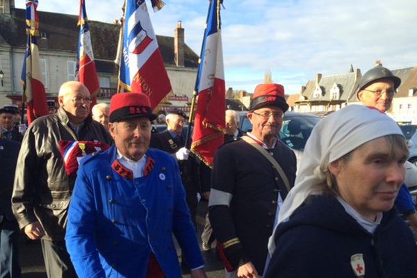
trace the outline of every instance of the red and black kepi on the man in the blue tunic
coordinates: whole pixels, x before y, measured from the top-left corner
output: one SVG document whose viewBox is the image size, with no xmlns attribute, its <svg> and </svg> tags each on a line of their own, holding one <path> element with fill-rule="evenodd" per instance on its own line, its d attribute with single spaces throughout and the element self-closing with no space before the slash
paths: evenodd
<svg viewBox="0 0 417 278">
<path fill-rule="evenodd" d="M 149 97 L 140 92 L 121 92 L 113 95 L 110 101 L 109 122 L 120 122 L 133 117 L 147 117 L 155 120 Z"/>
</svg>

